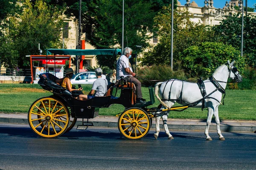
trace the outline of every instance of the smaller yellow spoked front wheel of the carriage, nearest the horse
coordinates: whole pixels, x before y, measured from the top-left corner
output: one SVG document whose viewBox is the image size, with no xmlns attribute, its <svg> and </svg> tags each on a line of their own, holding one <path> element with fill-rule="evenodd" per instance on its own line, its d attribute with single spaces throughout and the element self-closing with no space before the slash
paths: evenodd
<svg viewBox="0 0 256 170">
<path fill-rule="evenodd" d="M 125 110 L 118 119 L 119 132 L 127 139 L 140 139 L 149 132 L 151 121 L 145 111 L 140 108 Z"/>
</svg>

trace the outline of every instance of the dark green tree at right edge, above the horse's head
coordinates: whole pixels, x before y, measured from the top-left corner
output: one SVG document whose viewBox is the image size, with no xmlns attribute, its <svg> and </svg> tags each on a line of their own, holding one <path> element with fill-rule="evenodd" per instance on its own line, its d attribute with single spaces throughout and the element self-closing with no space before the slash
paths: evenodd
<svg viewBox="0 0 256 170">
<path fill-rule="evenodd" d="M 241 49 L 240 14 L 227 17 L 219 26 L 213 27 L 215 41 L 224 42 Z M 243 54 L 249 66 L 256 67 L 256 16 L 244 16 Z"/>
</svg>

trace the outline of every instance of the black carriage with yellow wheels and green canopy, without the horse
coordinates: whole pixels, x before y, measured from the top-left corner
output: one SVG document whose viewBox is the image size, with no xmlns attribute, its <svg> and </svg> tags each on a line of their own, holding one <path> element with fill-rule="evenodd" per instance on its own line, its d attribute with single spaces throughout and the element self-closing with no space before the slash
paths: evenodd
<svg viewBox="0 0 256 170">
<path fill-rule="evenodd" d="M 113 50 L 48 50 L 54 54 L 105 54 L 116 55 Z M 99 108 L 108 108 L 113 104 L 120 104 L 125 111 L 119 114 L 118 128 L 120 133 L 128 139 L 140 139 L 148 134 L 153 115 L 146 108 L 154 104 L 153 88 L 149 87 L 150 101 L 145 104 L 136 103 L 135 86 L 131 82 L 121 79 L 108 88 L 105 96 L 79 100 L 70 91 L 56 82 L 58 78 L 52 74 L 39 75 L 38 84 L 52 96 L 36 100 L 29 108 L 28 120 L 32 130 L 39 136 L 54 138 L 70 131 L 76 124 L 77 118 L 82 118 L 82 125 L 92 125 L 88 119 L 98 116 Z M 120 91 L 120 96 L 116 96 Z M 114 92 L 114 93 L 113 93 Z M 84 122 L 84 119 L 87 119 Z"/>
</svg>

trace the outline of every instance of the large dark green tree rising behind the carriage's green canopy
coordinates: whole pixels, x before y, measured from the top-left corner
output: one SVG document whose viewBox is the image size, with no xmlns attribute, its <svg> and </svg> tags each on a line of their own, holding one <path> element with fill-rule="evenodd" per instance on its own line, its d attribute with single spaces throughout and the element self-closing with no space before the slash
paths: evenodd
<svg viewBox="0 0 256 170">
<path fill-rule="evenodd" d="M 76 3 L 72 4 L 72 2 Z M 154 16 L 162 6 L 170 2 L 171 0 L 125 0 L 124 33 L 127 41 L 124 46 L 134 48 L 135 45 L 143 45 L 143 49 L 147 48 L 148 40 L 151 38 L 148 32 L 153 32 Z M 69 8 L 65 13 L 75 16 L 77 20 L 77 1 L 69 1 L 67 6 Z M 84 6 L 87 10 L 82 13 L 82 31 L 86 34 L 86 41 L 96 49 L 121 48 L 122 0 L 87 0 L 83 2 L 82 8 Z M 115 68 L 115 58 L 109 56 L 96 58 L 98 64 Z"/>
</svg>

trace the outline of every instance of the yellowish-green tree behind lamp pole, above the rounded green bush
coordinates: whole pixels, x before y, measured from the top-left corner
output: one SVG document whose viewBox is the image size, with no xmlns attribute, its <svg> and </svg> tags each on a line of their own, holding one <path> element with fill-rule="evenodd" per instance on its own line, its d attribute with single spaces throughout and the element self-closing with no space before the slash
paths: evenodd
<svg viewBox="0 0 256 170">
<path fill-rule="evenodd" d="M 143 55 L 142 65 L 170 64 L 171 60 L 171 6 L 163 7 L 163 11 L 155 17 L 155 28 L 158 29 L 159 43 Z M 177 62 L 184 49 L 201 42 L 211 41 L 212 31 L 207 26 L 196 24 L 190 19 L 188 11 L 174 13 L 173 60 Z"/>
</svg>

